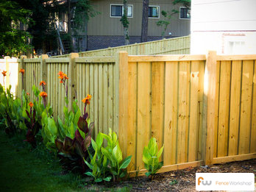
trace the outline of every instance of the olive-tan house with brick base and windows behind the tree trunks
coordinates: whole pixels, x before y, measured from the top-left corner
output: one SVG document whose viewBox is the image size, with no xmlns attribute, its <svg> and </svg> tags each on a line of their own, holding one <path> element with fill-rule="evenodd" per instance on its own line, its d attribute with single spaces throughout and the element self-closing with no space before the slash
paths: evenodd
<svg viewBox="0 0 256 192">
<path fill-rule="evenodd" d="M 148 40 L 162 39 L 163 28 L 157 26 L 156 22 L 163 19 L 160 14 L 162 10 L 166 12 L 179 10 L 180 13 L 174 14 L 166 30 L 165 38 L 174 38 L 190 34 L 190 14 L 182 4 L 173 5 L 173 1 L 160 0 L 149 1 L 149 29 Z M 88 21 L 87 34 L 81 31 L 76 37 L 73 35 L 73 44 L 75 51 L 86 51 L 93 49 L 104 49 L 113 46 L 124 45 L 124 29 L 121 24 L 121 14 L 123 9 L 122 0 L 93 0 L 93 8 L 99 11 L 99 15 L 90 18 Z M 140 43 L 141 41 L 141 23 L 143 4 L 141 0 L 128 1 L 128 20 L 129 20 L 129 42 Z M 71 13 L 75 14 L 75 1 L 71 8 Z M 72 14 L 73 14 L 72 13 Z M 68 17 L 62 15 L 59 25 L 61 32 L 67 32 Z M 71 19 L 71 24 L 72 24 Z M 74 25 L 74 23 L 73 23 Z M 65 44 L 65 43 L 64 43 Z"/>
</svg>

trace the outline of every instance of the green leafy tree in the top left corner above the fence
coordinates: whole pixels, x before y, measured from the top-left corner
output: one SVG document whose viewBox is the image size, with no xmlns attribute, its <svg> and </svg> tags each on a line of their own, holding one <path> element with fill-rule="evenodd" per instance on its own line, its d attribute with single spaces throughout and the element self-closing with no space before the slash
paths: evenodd
<svg viewBox="0 0 256 192">
<path fill-rule="evenodd" d="M 20 29 L 20 23 L 28 24 L 29 10 L 25 10 L 15 1 L 0 0 L 0 57 L 4 55 L 18 57 L 27 51 L 29 33 Z"/>
</svg>

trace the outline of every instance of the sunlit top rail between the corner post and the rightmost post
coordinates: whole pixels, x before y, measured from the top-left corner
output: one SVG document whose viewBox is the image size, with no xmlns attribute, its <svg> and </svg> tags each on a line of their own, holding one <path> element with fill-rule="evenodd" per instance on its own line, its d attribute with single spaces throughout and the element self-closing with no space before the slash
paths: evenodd
<svg viewBox="0 0 256 192">
<path fill-rule="evenodd" d="M 160 61 L 191 61 L 191 60 L 206 60 L 205 54 L 199 55 L 131 55 L 128 62 L 160 62 Z"/>
</svg>

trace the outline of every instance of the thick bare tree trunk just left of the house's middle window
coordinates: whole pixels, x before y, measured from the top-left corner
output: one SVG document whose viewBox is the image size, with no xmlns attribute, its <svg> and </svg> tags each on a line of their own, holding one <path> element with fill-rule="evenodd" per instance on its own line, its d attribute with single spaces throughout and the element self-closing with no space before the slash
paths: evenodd
<svg viewBox="0 0 256 192">
<path fill-rule="evenodd" d="M 141 42 L 148 40 L 149 0 L 143 0 Z"/>
</svg>

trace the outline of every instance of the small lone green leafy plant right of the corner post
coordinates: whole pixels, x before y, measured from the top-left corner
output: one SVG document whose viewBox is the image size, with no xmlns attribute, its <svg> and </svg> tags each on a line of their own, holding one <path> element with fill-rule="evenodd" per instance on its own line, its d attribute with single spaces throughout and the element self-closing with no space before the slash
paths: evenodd
<svg viewBox="0 0 256 192">
<path fill-rule="evenodd" d="M 158 152 L 157 141 L 155 138 L 151 138 L 148 146 L 145 146 L 143 149 L 143 162 L 145 165 L 146 176 L 154 175 L 157 171 L 163 166 L 163 162 L 159 162 L 159 158 L 163 153 L 163 146 Z"/>
</svg>

